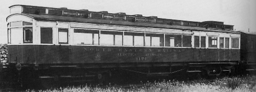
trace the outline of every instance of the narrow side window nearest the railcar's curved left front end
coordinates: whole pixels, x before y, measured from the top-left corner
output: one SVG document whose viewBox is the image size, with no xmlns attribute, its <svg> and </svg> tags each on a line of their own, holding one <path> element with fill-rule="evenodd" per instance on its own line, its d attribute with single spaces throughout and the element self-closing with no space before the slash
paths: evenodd
<svg viewBox="0 0 256 92">
<path fill-rule="evenodd" d="M 33 39 L 33 30 L 32 27 L 24 27 L 23 28 L 23 34 L 24 34 L 24 43 L 32 43 Z"/>
</svg>

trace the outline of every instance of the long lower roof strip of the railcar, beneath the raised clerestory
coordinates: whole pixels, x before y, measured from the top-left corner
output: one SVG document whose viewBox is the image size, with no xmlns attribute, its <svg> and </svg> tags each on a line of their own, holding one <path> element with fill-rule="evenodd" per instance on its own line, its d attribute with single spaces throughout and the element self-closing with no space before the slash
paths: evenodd
<svg viewBox="0 0 256 92">
<path fill-rule="evenodd" d="M 17 15 L 17 14 L 12 14 Z M 7 16 L 7 19 L 12 16 Z M 191 31 L 210 31 L 210 32 L 225 32 L 225 33 L 240 33 L 237 31 L 222 31 L 222 30 L 211 30 L 204 27 L 191 27 L 191 26 L 178 26 L 178 25 L 167 25 L 167 24 L 151 24 L 147 22 L 130 22 L 120 20 L 107 20 L 107 19 L 91 19 L 82 18 L 75 16 L 61 16 L 61 15 L 49 15 L 49 14 L 18 14 L 25 15 L 35 20 L 52 20 L 52 21 L 66 21 L 66 22 L 84 22 L 92 24 L 107 24 L 107 25 L 122 25 L 122 26 L 138 26 L 138 27 L 155 27 L 155 28 L 172 28 L 177 30 L 191 30 Z"/>
</svg>

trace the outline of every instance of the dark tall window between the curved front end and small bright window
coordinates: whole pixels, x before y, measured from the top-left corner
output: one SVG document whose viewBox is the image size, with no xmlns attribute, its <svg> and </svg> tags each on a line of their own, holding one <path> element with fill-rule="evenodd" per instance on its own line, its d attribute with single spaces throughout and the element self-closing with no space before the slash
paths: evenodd
<svg viewBox="0 0 256 92">
<path fill-rule="evenodd" d="M 41 43 L 53 44 L 53 30 L 50 27 L 41 27 Z"/>
</svg>

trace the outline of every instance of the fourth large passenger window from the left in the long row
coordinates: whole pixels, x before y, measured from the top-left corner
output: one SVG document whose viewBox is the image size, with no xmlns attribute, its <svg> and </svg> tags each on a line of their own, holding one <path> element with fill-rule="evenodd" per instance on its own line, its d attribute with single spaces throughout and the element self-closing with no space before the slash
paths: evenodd
<svg viewBox="0 0 256 92">
<path fill-rule="evenodd" d="M 163 47 L 163 34 L 146 33 L 145 45 L 151 47 Z"/>
</svg>

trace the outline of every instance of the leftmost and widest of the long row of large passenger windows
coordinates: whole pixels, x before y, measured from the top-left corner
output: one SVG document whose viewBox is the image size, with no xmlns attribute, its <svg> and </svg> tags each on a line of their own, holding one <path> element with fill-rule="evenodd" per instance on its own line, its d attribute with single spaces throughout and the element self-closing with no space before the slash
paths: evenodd
<svg viewBox="0 0 256 92">
<path fill-rule="evenodd" d="M 99 45 L 99 31 L 74 29 L 74 44 Z"/>
</svg>

